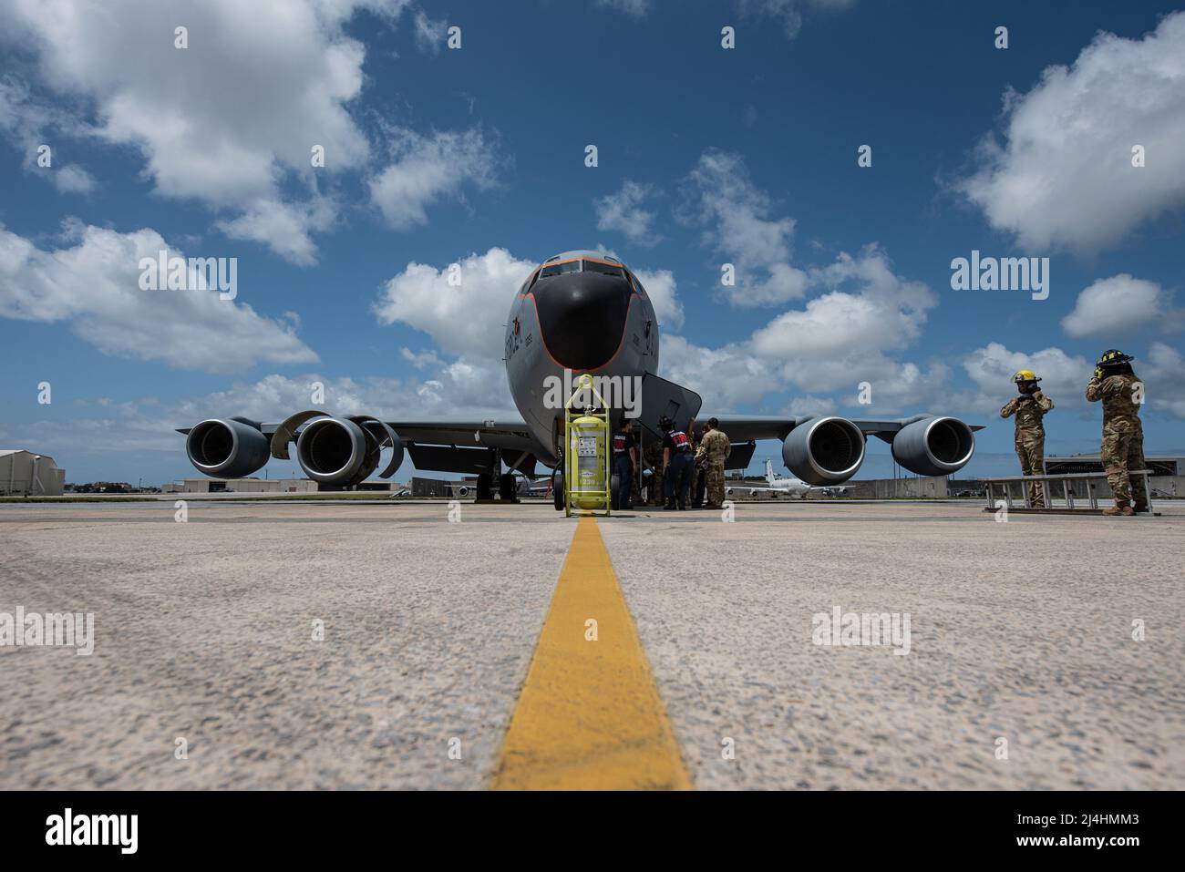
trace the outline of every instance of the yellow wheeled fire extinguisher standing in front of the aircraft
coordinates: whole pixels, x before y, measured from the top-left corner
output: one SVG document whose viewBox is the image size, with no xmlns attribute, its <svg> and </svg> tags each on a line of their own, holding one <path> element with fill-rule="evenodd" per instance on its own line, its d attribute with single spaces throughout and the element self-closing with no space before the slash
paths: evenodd
<svg viewBox="0 0 1185 872">
<path fill-rule="evenodd" d="M 574 410 L 572 403 L 583 395 L 592 398 L 592 408 Z M 592 386 L 592 377 L 581 376 L 579 387 L 564 404 L 564 515 L 572 509 L 584 514 L 609 517 L 613 508 L 613 474 L 609 463 L 609 405 Z"/>
</svg>

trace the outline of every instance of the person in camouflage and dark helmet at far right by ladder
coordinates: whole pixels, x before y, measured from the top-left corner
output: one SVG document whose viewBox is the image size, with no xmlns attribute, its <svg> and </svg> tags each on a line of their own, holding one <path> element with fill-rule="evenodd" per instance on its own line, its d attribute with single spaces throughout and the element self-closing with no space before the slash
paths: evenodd
<svg viewBox="0 0 1185 872">
<path fill-rule="evenodd" d="M 1133 481 L 1128 475 L 1133 469 L 1144 469 L 1144 425 L 1140 423 L 1144 383 L 1132 371 L 1132 360 L 1129 354 L 1108 348 L 1087 384 L 1087 399 L 1103 404 L 1102 461 L 1115 498 L 1115 505 L 1103 512 L 1109 515 L 1148 511 L 1144 476 Z"/>
</svg>

